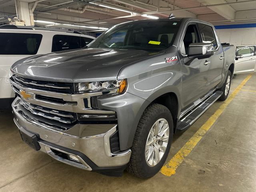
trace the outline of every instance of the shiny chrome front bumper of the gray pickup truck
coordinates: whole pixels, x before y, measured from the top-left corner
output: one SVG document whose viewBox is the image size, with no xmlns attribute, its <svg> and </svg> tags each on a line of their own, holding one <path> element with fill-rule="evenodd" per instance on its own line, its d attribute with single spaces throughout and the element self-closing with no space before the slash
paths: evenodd
<svg viewBox="0 0 256 192">
<path fill-rule="evenodd" d="M 113 154 L 110 151 L 110 136 L 116 131 L 116 124 L 85 124 L 74 126 L 68 132 L 49 129 L 22 115 L 18 105 L 19 98 L 12 103 L 14 122 L 18 128 L 24 128 L 38 136 L 40 150 L 56 160 L 89 171 L 101 172 L 124 168 L 130 160 L 131 150 Z M 92 130 L 99 126 L 108 130 L 102 134 L 92 135 Z M 90 135 L 90 136 L 87 136 Z M 79 164 L 60 158 L 52 150 L 72 154 L 80 160 Z"/>
</svg>

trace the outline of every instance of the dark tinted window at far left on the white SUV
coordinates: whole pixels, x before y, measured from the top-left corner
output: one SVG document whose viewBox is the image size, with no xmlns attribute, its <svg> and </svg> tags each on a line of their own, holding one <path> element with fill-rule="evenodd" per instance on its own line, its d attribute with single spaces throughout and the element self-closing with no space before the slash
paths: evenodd
<svg viewBox="0 0 256 192">
<path fill-rule="evenodd" d="M 0 33 L 0 55 L 35 55 L 42 34 Z"/>
</svg>

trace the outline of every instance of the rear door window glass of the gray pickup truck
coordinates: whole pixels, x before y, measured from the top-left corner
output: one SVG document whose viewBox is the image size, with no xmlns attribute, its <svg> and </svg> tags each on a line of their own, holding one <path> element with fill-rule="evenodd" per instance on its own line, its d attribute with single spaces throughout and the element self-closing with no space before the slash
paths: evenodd
<svg viewBox="0 0 256 192">
<path fill-rule="evenodd" d="M 216 42 L 216 38 L 213 32 L 213 28 L 211 26 L 208 25 L 204 25 L 199 23 L 198 24 L 200 32 L 202 34 L 202 41 L 203 43 L 210 43 L 213 44 L 214 49 L 217 48 L 217 42 Z"/>
</svg>

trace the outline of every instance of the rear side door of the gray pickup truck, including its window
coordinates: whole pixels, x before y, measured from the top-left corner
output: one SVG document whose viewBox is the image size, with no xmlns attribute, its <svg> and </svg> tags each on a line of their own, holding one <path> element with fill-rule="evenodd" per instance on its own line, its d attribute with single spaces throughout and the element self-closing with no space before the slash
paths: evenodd
<svg viewBox="0 0 256 192">
<path fill-rule="evenodd" d="M 214 55 L 208 58 L 208 90 L 215 88 L 222 80 L 222 69 L 224 64 L 224 52 L 214 29 L 210 25 L 198 24 L 202 41 L 204 43 L 211 43 L 214 46 Z"/>
</svg>

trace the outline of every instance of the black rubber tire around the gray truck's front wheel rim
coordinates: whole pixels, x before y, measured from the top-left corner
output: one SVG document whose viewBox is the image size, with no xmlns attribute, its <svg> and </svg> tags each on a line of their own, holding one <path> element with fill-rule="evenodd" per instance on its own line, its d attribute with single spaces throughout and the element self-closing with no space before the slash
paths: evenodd
<svg viewBox="0 0 256 192">
<path fill-rule="evenodd" d="M 168 122 L 169 140 L 164 155 L 162 156 L 160 162 L 158 162 L 158 164 L 156 164 L 155 166 L 149 166 L 145 158 L 145 146 L 148 134 L 152 126 L 160 118 L 164 118 Z M 152 104 L 148 106 L 148 108 L 146 108 L 146 110 L 142 114 L 142 117 L 140 118 L 140 122 L 138 124 L 131 148 L 132 154 L 130 162 L 128 163 L 126 170 L 139 178 L 145 179 L 154 176 L 156 173 L 160 171 L 160 169 L 164 165 L 164 162 L 166 161 L 172 143 L 172 136 L 173 120 L 170 110 L 168 110 L 168 108 L 160 104 Z"/>
</svg>

